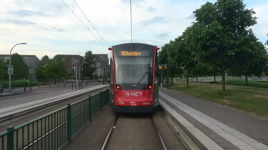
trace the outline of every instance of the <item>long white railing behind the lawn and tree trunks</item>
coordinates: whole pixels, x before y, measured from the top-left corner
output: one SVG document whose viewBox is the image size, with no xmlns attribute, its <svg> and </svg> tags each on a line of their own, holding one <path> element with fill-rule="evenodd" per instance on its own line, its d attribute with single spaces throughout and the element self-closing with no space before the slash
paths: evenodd
<svg viewBox="0 0 268 150">
<path fill-rule="evenodd" d="M 234 76 L 225 76 L 225 80 L 226 79 L 245 79 L 245 76 L 241 76 L 241 77 L 234 77 Z M 216 76 L 216 81 L 221 81 L 222 77 L 221 76 Z M 248 80 L 251 81 L 265 81 L 268 82 L 268 78 L 260 78 L 260 77 L 248 77 Z M 173 81 L 173 82 L 183 82 L 186 81 L 186 79 L 183 80 L 177 80 L 177 81 Z M 197 78 L 198 82 L 213 82 L 214 81 L 214 77 L 198 77 Z M 189 78 L 189 82 L 196 82 L 196 78 Z"/>
</svg>

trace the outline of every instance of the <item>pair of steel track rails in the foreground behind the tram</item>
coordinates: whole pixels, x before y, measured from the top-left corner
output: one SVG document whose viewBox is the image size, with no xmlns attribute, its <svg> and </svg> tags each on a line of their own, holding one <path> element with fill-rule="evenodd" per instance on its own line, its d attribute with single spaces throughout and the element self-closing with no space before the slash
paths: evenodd
<svg viewBox="0 0 268 150">
<path fill-rule="evenodd" d="M 115 128 L 116 128 L 115 126 L 116 126 L 117 121 L 118 121 L 118 119 L 120 117 L 121 117 L 120 114 L 117 114 L 117 116 L 115 117 L 115 121 L 113 122 L 113 124 L 112 124 L 112 126 L 111 126 L 111 128 L 109 130 L 109 133 L 107 134 L 107 137 L 106 137 L 106 139 L 105 139 L 105 141 L 103 143 L 103 146 L 101 147 L 101 150 L 107 150 L 107 149 L 109 149 L 109 144 L 110 144 L 111 139 L 113 137 L 113 133 L 115 132 Z M 159 144 L 160 149 L 161 150 L 167 150 L 167 148 L 165 146 L 165 143 L 164 143 L 164 141 L 163 141 L 163 139 L 162 139 L 162 137 L 161 137 L 161 135 L 160 135 L 160 133 L 159 133 L 159 131 L 157 129 L 157 126 L 155 125 L 155 122 L 153 120 L 152 115 L 149 114 L 147 116 L 147 119 L 149 119 L 149 122 L 148 123 L 151 123 L 151 127 L 153 128 L 153 133 L 152 134 L 155 135 L 155 138 L 157 139 L 157 142 Z M 123 136 L 123 135 L 121 135 L 121 136 Z"/>
</svg>

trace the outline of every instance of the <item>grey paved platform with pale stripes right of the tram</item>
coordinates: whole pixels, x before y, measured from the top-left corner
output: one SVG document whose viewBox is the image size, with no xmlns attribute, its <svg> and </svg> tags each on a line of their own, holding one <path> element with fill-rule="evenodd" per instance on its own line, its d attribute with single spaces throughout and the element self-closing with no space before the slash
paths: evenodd
<svg viewBox="0 0 268 150">
<path fill-rule="evenodd" d="M 268 150 L 268 120 L 159 88 L 159 98 L 226 150 Z"/>
</svg>

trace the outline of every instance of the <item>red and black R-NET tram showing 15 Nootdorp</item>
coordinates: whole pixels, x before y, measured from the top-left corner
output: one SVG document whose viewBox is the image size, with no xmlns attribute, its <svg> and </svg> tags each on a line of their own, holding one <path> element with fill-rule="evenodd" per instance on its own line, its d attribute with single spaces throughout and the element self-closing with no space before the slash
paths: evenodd
<svg viewBox="0 0 268 150">
<path fill-rule="evenodd" d="M 108 48 L 110 106 L 120 113 L 153 112 L 159 105 L 157 46 L 142 43 Z"/>
</svg>

